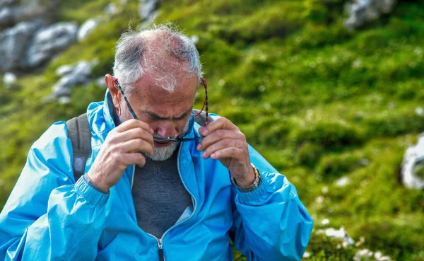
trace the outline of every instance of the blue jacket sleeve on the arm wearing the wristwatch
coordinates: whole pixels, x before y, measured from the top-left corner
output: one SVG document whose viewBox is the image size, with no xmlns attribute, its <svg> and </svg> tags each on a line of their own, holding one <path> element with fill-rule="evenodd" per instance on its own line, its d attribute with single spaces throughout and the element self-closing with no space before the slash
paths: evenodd
<svg viewBox="0 0 424 261">
<path fill-rule="evenodd" d="M 261 172 L 261 184 L 252 192 L 232 185 L 235 204 L 230 238 L 247 260 L 300 260 L 313 221 L 295 187 L 249 146 L 250 161 Z"/>
</svg>

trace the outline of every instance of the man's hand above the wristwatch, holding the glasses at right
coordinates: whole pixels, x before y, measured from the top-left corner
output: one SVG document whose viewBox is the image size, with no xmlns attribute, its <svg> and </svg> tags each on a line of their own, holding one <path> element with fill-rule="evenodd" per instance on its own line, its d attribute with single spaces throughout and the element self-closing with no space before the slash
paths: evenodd
<svg viewBox="0 0 424 261">
<path fill-rule="evenodd" d="M 203 158 L 218 159 L 230 170 L 237 186 L 247 187 L 254 182 L 254 171 L 250 165 L 249 150 L 245 134 L 225 117 L 220 117 L 201 127 L 199 133 L 204 139 L 197 146 Z"/>
</svg>

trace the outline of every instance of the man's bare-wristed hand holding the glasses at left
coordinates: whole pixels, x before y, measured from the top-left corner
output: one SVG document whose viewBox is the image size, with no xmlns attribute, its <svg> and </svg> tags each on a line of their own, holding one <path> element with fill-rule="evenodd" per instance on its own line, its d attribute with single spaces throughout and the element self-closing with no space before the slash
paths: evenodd
<svg viewBox="0 0 424 261">
<path fill-rule="evenodd" d="M 140 120 L 127 120 L 107 134 L 93 166 L 86 175 L 101 190 L 109 192 L 122 177 L 124 170 L 137 164 L 143 167 L 153 156 L 153 129 Z"/>
</svg>

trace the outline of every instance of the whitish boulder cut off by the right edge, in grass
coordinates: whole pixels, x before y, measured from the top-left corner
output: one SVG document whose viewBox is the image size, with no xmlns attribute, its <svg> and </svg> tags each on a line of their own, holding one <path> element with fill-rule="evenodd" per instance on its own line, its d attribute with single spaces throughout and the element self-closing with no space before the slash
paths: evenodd
<svg viewBox="0 0 424 261">
<path fill-rule="evenodd" d="M 424 133 L 420 134 L 416 145 L 406 149 L 401 181 L 408 189 L 424 190 Z"/>
</svg>

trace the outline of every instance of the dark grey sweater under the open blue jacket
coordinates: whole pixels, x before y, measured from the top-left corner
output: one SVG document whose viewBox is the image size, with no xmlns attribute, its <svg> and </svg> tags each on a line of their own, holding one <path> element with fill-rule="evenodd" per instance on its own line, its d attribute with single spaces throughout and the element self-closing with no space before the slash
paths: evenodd
<svg viewBox="0 0 424 261">
<path fill-rule="evenodd" d="M 134 173 L 132 195 L 137 223 L 156 238 L 192 207 L 192 197 L 179 178 L 177 153 L 178 149 L 166 161 L 146 158 L 146 165 L 137 166 Z"/>
</svg>

